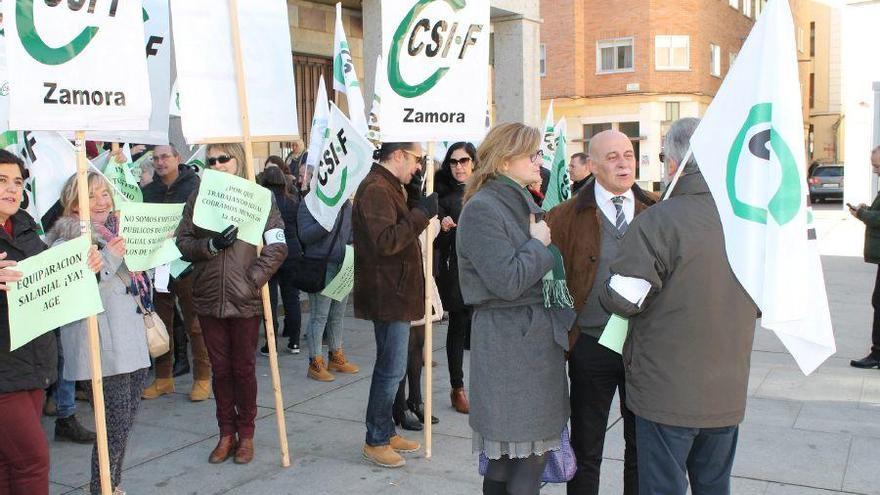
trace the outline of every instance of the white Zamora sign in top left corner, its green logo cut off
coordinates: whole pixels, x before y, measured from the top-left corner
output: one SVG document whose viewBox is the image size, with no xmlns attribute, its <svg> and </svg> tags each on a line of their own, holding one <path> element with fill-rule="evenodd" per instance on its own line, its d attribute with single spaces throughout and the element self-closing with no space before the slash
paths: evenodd
<svg viewBox="0 0 880 495">
<path fill-rule="evenodd" d="M 149 128 L 142 2 L 7 1 L 9 128 Z"/>
</svg>

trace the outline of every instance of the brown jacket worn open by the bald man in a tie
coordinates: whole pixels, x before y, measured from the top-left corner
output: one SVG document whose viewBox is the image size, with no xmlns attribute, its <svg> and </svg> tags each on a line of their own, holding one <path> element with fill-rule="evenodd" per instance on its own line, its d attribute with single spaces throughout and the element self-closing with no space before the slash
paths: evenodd
<svg viewBox="0 0 880 495">
<path fill-rule="evenodd" d="M 643 191 L 635 184 L 632 191 L 636 200 L 636 215 L 657 202 L 656 194 Z M 574 310 L 578 313 L 590 295 L 596 267 L 599 266 L 601 214 L 596 205 L 596 182 L 592 181 L 582 187 L 575 197 L 557 205 L 546 216 L 553 245 L 562 253 L 568 290 L 574 300 Z M 574 349 L 579 335 L 580 329 L 575 325 L 568 333 L 569 349 Z"/>
</svg>

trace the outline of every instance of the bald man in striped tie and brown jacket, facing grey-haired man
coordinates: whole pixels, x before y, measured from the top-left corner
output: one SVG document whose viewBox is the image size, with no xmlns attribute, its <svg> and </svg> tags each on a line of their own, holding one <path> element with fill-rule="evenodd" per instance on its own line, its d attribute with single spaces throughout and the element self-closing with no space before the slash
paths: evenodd
<svg viewBox="0 0 880 495">
<path fill-rule="evenodd" d="M 572 163 L 581 158 L 573 155 Z M 590 140 L 590 166 L 596 178 L 574 198 L 550 210 L 547 224 L 553 243 L 562 253 L 568 289 L 578 313 L 569 334 L 571 353 L 571 445 L 578 469 L 568 483 L 569 495 L 597 495 L 605 430 L 614 392 L 620 393 L 623 417 L 625 495 L 638 492 L 635 417 L 626 407 L 623 361 L 599 345 L 610 315 L 599 304 L 599 292 L 608 279 L 608 267 L 617 256 L 633 217 L 654 204 L 655 198 L 635 185 L 636 158 L 632 142 L 618 131 L 600 132 Z M 586 163 L 586 155 L 583 155 Z M 580 165 L 578 165 L 580 167 Z M 581 184 L 590 170 L 580 173 Z"/>
</svg>

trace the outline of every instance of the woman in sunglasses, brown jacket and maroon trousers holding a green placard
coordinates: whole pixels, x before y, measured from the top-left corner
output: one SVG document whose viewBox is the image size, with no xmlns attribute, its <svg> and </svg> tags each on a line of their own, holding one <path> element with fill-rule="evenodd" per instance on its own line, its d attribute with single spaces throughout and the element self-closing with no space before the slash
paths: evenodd
<svg viewBox="0 0 880 495">
<path fill-rule="evenodd" d="M 240 144 L 212 144 L 207 166 L 227 174 L 245 176 L 244 149 Z M 193 223 L 198 197 L 193 192 L 177 228 L 177 247 L 193 264 L 193 307 L 199 317 L 213 370 L 214 397 L 220 440 L 208 457 L 219 464 L 233 455 L 237 464 L 254 457 L 254 419 L 257 416 L 256 350 L 263 304 L 260 290 L 287 257 L 284 221 L 274 201 L 264 232 L 268 244 L 257 248 L 238 239 L 238 228 L 221 233 Z M 275 235 L 280 232 L 281 235 Z"/>
</svg>

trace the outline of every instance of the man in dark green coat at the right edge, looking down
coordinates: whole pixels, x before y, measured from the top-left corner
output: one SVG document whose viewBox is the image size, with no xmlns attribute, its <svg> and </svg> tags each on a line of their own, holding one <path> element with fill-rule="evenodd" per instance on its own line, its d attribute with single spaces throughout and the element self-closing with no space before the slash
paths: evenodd
<svg viewBox="0 0 880 495">
<path fill-rule="evenodd" d="M 880 146 L 871 153 L 871 168 L 874 174 L 880 175 Z M 850 207 L 849 212 L 865 224 L 865 262 L 880 264 L 880 194 L 877 194 L 871 206 L 862 203 L 856 208 Z M 880 368 L 880 267 L 877 269 L 871 306 L 874 307 L 871 353 L 849 362 L 856 368 Z"/>
</svg>

